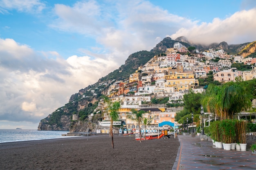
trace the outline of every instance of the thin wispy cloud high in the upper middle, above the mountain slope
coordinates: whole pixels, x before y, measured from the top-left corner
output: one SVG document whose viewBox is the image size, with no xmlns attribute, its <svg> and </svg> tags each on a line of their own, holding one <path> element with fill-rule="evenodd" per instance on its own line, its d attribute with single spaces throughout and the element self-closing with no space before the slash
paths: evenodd
<svg viewBox="0 0 256 170">
<path fill-rule="evenodd" d="M 56 4 L 54 29 L 94 38 L 121 65 L 128 55 L 151 50 L 168 33 L 189 27 L 195 21 L 168 13 L 147 1 L 76 2 L 72 7 Z M 96 48 L 94 46 L 91 47 Z M 88 51 L 80 49 L 88 55 Z"/>
</svg>

